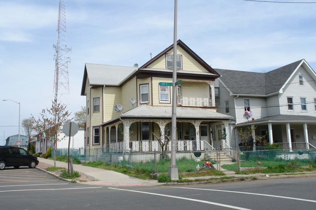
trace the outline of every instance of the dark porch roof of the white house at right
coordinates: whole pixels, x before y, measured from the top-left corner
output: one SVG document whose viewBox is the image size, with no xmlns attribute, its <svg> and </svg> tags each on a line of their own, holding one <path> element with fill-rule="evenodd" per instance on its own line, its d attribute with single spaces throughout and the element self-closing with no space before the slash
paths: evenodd
<svg viewBox="0 0 316 210">
<path fill-rule="evenodd" d="M 251 125 L 251 124 L 263 124 L 268 122 L 277 122 L 277 123 L 288 123 L 288 122 L 297 122 L 297 123 L 315 123 L 316 117 L 307 116 L 307 115 L 274 115 L 268 117 L 262 117 L 255 120 L 245 121 L 238 123 L 235 127 Z"/>
</svg>

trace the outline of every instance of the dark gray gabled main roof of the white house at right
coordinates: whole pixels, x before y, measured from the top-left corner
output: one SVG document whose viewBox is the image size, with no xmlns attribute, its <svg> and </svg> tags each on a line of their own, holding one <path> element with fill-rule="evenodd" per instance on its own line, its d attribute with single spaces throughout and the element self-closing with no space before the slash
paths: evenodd
<svg viewBox="0 0 316 210">
<path fill-rule="evenodd" d="M 265 96 L 282 92 L 284 86 L 301 65 L 316 79 L 315 72 L 304 59 L 266 73 L 225 69 L 215 70 L 221 75 L 218 78 L 219 81 L 224 84 L 231 95 Z"/>
</svg>

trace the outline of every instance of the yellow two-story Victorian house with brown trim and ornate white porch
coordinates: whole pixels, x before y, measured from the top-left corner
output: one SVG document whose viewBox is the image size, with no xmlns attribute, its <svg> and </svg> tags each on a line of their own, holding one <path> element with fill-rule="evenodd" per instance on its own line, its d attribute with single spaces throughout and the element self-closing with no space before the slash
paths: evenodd
<svg viewBox="0 0 316 210">
<path fill-rule="evenodd" d="M 176 59 L 176 150 L 228 148 L 232 117 L 215 106 L 214 81 L 220 75 L 181 40 Z M 163 134 L 170 134 L 172 67 L 173 45 L 142 66 L 86 63 L 81 90 L 87 103 L 86 149 L 161 151 L 155 135 L 163 142 Z"/>
</svg>

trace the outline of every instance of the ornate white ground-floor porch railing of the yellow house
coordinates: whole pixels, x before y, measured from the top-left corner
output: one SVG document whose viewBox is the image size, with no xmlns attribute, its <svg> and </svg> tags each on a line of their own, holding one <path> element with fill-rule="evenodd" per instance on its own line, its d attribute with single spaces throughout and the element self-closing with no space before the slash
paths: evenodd
<svg viewBox="0 0 316 210">
<path fill-rule="evenodd" d="M 196 151 L 197 150 L 196 140 L 179 140 L 176 141 L 176 150 L 177 151 Z M 111 149 L 123 149 L 124 142 L 114 142 L 108 145 Z M 152 151 L 161 151 L 161 146 L 158 141 L 130 141 L 130 148 L 133 151 L 142 151 L 142 152 L 152 152 Z M 200 150 L 202 151 L 212 151 L 215 150 L 209 143 L 206 141 L 200 141 Z M 167 151 L 171 151 L 171 142 L 167 145 Z"/>
</svg>

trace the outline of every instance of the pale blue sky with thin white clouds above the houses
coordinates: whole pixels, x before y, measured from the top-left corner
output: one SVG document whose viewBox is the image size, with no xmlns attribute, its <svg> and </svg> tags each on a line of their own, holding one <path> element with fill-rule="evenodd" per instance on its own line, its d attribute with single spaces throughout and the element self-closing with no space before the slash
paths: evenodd
<svg viewBox="0 0 316 210">
<path fill-rule="evenodd" d="M 85 105 L 85 63 L 143 65 L 173 44 L 174 1 L 65 5 L 72 113 Z M 58 6 L 58 0 L 0 1 L 0 97 L 21 102 L 21 120 L 51 106 Z M 305 59 L 316 70 L 315 9 L 315 3 L 179 0 L 177 39 L 213 68 L 261 72 Z M 0 145 L 3 134 L 18 134 L 18 117 L 18 104 L 0 101 Z"/>
</svg>

